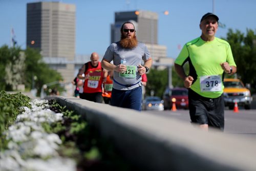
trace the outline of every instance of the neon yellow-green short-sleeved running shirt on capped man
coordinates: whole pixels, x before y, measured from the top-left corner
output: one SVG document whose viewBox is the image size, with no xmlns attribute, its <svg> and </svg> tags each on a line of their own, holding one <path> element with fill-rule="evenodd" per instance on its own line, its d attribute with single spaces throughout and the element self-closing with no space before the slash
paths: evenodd
<svg viewBox="0 0 256 171">
<path fill-rule="evenodd" d="M 227 61 L 230 66 L 236 66 L 230 45 L 227 41 L 217 37 L 212 41 L 204 41 L 198 37 L 187 42 L 175 63 L 183 66 L 187 61 L 189 63 L 189 75 L 194 78 L 191 90 L 208 98 L 217 98 L 223 93 L 224 71 L 220 63 Z M 216 77 L 220 82 L 215 80 Z M 204 78 L 207 79 L 208 84 L 202 82 Z M 219 89 L 205 91 L 203 87 L 207 86 L 219 86 Z"/>
</svg>

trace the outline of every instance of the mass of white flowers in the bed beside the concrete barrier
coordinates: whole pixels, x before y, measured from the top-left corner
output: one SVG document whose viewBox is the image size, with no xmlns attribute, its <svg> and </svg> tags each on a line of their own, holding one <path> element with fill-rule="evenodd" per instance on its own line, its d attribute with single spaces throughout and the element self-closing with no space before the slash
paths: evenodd
<svg viewBox="0 0 256 171">
<path fill-rule="evenodd" d="M 23 107 L 4 133 L 10 141 L 9 149 L 0 152 L 0 170 L 76 170 L 73 160 L 58 157 L 56 150 L 62 143 L 58 135 L 47 134 L 41 126 L 42 122 L 61 121 L 63 114 L 48 109 L 48 100 L 34 99 L 30 104 L 32 108 Z M 37 156 L 50 159 L 32 159 Z"/>
</svg>

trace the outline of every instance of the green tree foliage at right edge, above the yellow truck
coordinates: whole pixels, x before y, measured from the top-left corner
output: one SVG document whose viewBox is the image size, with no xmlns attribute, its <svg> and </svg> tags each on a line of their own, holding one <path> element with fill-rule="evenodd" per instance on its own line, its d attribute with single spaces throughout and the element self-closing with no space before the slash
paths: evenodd
<svg viewBox="0 0 256 171">
<path fill-rule="evenodd" d="M 244 83 L 250 83 L 255 91 L 256 77 L 256 30 L 247 29 L 246 34 L 232 29 L 228 30 L 226 40 L 229 42 L 234 61 L 237 64 L 237 75 Z"/>
</svg>

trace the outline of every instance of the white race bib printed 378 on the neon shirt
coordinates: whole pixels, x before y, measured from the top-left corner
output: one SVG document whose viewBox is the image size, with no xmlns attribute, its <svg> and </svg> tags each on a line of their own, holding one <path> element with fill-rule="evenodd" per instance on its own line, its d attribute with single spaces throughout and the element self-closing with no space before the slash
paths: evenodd
<svg viewBox="0 0 256 171">
<path fill-rule="evenodd" d="M 219 75 L 208 75 L 200 77 L 201 92 L 218 92 L 222 90 L 221 77 Z"/>
</svg>

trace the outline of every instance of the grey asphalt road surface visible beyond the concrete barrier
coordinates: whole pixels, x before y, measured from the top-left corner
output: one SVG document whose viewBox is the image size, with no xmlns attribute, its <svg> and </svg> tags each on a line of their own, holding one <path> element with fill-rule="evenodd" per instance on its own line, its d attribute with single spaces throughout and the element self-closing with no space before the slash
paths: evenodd
<svg viewBox="0 0 256 171">
<path fill-rule="evenodd" d="M 188 110 L 145 111 L 162 117 L 172 117 L 190 124 Z M 239 109 L 238 113 L 233 110 L 225 110 L 224 134 L 242 135 L 256 140 L 256 110 Z"/>
</svg>

